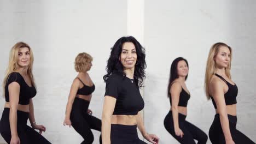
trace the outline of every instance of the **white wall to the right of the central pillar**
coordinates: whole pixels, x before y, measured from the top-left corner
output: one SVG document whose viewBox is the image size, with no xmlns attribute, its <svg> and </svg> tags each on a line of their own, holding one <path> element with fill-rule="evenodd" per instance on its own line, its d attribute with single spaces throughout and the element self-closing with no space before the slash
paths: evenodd
<svg viewBox="0 0 256 144">
<path fill-rule="evenodd" d="M 145 1 L 145 123 L 149 131 L 158 132 L 161 143 L 178 143 L 163 121 L 170 110 L 166 95 L 170 67 L 179 56 L 187 58 L 190 66 L 187 119 L 208 134 L 214 108 L 206 100 L 203 81 L 208 52 L 218 41 L 234 50 L 231 74 L 239 89 L 237 128 L 256 141 L 255 8 L 256 1 Z"/>
</svg>

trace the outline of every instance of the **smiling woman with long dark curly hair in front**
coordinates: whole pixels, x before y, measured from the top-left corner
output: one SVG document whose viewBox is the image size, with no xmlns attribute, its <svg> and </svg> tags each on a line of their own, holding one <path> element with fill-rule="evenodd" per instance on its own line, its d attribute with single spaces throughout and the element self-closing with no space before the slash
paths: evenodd
<svg viewBox="0 0 256 144">
<path fill-rule="evenodd" d="M 144 128 L 141 110 L 144 101 L 139 93 L 145 76 L 145 51 L 133 37 L 121 37 L 112 47 L 107 62 L 106 92 L 102 112 L 103 143 L 145 143 L 139 140 L 137 127 L 145 139 L 158 143 L 159 138 Z"/>
</svg>

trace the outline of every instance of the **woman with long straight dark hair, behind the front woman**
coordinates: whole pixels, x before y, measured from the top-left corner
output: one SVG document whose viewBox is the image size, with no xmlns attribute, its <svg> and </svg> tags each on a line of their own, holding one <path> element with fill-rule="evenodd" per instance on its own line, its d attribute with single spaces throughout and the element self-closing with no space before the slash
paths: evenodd
<svg viewBox="0 0 256 144">
<path fill-rule="evenodd" d="M 190 93 L 185 84 L 188 78 L 189 65 L 183 57 L 174 59 L 170 70 L 167 95 L 170 99 L 171 110 L 165 117 L 166 130 L 180 143 L 205 144 L 207 135 L 194 124 L 186 121 L 187 105 Z"/>
</svg>

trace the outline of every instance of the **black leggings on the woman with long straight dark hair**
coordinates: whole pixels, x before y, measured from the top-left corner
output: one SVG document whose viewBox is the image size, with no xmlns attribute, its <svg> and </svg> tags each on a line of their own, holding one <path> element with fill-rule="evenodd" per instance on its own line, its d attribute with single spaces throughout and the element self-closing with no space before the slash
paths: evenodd
<svg viewBox="0 0 256 144">
<path fill-rule="evenodd" d="M 185 121 L 185 118 L 187 116 L 182 115 L 179 113 L 178 119 L 179 119 L 179 128 L 183 131 L 183 137 L 177 136 L 174 131 L 174 124 L 173 124 L 173 118 L 172 118 L 172 111 L 169 111 L 168 114 L 165 117 L 164 125 L 165 129 L 180 143 L 195 143 L 194 139 L 197 140 L 197 143 L 205 144 L 207 142 L 207 135 L 199 128 L 197 128 L 195 125 L 189 123 L 188 121 Z"/>
</svg>

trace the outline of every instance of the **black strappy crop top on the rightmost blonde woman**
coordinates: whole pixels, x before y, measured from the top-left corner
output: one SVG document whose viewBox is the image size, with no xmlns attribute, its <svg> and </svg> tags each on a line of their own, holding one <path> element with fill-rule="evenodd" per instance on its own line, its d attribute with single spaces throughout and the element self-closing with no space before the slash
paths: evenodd
<svg viewBox="0 0 256 144">
<path fill-rule="evenodd" d="M 225 99 L 225 103 L 226 105 L 234 105 L 237 103 L 236 101 L 236 97 L 237 97 L 237 93 L 238 93 L 238 88 L 235 85 L 231 85 L 231 83 L 229 83 L 228 81 L 226 81 L 222 76 L 218 75 L 218 74 L 215 74 L 216 76 L 218 76 L 220 79 L 222 79 L 226 85 L 228 85 L 229 89 L 228 89 L 228 92 L 226 92 L 224 94 L 224 99 Z M 216 106 L 216 103 L 213 99 L 212 96 L 210 96 L 210 98 L 212 99 L 212 104 L 214 106 L 215 109 L 217 109 L 217 106 Z"/>
</svg>

